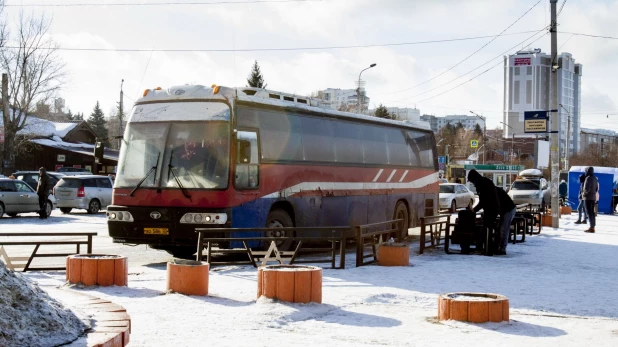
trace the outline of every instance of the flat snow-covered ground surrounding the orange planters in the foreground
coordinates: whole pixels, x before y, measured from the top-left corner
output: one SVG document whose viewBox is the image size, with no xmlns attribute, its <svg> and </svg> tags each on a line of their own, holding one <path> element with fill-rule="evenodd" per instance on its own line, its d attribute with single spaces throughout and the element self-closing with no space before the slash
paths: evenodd
<svg viewBox="0 0 618 347">
<path fill-rule="evenodd" d="M 409 267 L 324 270 L 323 304 L 256 301 L 256 269 L 211 269 L 209 296 L 165 294 L 165 262 L 133 265 L 128 287 L 79 290 L 123 305 L 130 346 L 618 346 L 618 216 L 599 216 L 596 234 L 575 225 L 544 228 L 507 256 L 419 256 Z M 79 227 L 75 223 L 75 227 Z M 73 228 L 73 225 L 71 225 Z M 416 245 L 413 245 L 416 247 Z M 45 288 L 64 273 L 26 273 Z M 439 294 L 506 295 L 509 323 L 438 322 Z"/>
</svg>

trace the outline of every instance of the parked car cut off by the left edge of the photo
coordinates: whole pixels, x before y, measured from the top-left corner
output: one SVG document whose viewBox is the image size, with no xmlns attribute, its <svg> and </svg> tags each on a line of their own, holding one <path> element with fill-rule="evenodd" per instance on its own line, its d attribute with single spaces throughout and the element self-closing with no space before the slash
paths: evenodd
<svg viewBox="0 0 618 347">
<path fill-rule="evenodd" d="M 51 215 L 54 204 L 45 202 L 45 213 Z M 11 217 L 19 213 L 39 212 L 39 196 L 22 180 L 0 178 L 0 217 L 5 213 Z"/>
</svg>

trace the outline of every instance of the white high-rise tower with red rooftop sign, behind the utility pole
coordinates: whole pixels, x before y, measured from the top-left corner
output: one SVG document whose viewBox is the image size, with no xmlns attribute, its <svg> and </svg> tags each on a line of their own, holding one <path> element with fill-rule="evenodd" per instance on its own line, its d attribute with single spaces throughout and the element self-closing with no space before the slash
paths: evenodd
<svg viewBox="0 0 618 347">
<path fill-rule="evenodd" d="M 561 156 L 582 148 L 581 76 L 582 65 L 576 64 L 570 53 L 558 56 L 558 117 Z M 549 111 L 551 87 L 551 55 L 540 49 L 520 51 L 504 57 L 504 137 L 535 137 L 524 132 L 525 111 Z M 555 113 L 550 113 L 551 117 Z M 511 128 L 512 127 L 512 128 Z M 550 127 L 548 125 L 548 127 Z"/>
</svg>

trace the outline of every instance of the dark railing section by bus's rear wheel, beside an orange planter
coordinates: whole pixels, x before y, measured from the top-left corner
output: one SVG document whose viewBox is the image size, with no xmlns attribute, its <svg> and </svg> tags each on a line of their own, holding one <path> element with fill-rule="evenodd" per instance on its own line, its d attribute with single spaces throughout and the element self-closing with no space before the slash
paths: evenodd
<svg viewBox="0 0 618 347">
<path fill-rule="evenodd" d="M 376 252 L 376 244 L 379 245 L 385 240 L 383 236 L 388 237 L 391 233 L 397 233 L 401 230 L 403 219 L 395 219 L 386 222 L 372 223 L 359 225 L 356 227 L 356 267 L 372 264 L 378 260 Z M 387 229 L 383 229 L 387 228 Z M 373 230 L 372 230 L 373 229 Z M 368 239 L 368 242 L 366 241 Z M 377 243 L 376 243 L 377 242 Z M 371 247 L 371 254 L 365 254 L 365 248 Z M 367 258 L 373 257 L 373 260 L 365 261 Z"/>
</svg>

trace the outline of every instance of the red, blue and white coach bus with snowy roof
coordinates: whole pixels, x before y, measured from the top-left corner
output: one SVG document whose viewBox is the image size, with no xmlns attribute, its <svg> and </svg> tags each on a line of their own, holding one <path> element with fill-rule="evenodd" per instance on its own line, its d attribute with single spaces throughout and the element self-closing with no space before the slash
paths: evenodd
<svg viewBox="0 0 618 347">
<path fill-rule="evenodd" d="M 190 257 L 195 228 L 403 219 L 402 237 L 436 213 L 438 163 L 427 123 L 320 102 L 260 88 L 146 90 L 123 135 L 109 235 L 115 243 Z M 290 246 L 282 241 L 281 248 Z"/>
</svg>

